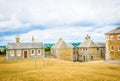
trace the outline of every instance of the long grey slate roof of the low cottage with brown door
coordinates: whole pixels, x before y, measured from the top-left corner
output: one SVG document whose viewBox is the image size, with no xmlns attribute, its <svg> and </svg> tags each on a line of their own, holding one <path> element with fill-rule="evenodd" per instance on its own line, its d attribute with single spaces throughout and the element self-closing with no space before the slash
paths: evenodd
<svg viewBox="0 0 120 81">
<path fill-rule="evenodd" d="M 7 49 L 32 49 L 32 48 L 43 48 L 43 43 L 8 43 Z"/>
</svg>

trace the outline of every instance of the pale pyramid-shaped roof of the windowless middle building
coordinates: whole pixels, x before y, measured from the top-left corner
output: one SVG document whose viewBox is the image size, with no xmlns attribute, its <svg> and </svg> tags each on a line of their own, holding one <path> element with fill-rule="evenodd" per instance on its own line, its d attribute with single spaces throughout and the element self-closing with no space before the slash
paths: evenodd
<svg viewBox="0 0 120 81">
<path fill-rule="evenodd" d="M 52 48 L 73 48 L 73 46 L 71 44 L 66 43 L 62 38 L 60 38 L 58 40 L 58 42 L 55 43 L 54 46 L 52 46 Z"/>
</svg>

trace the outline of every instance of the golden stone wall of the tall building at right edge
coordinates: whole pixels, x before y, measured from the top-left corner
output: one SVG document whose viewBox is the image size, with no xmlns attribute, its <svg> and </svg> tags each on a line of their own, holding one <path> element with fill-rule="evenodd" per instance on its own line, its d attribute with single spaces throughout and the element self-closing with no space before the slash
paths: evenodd
<svg viewBox="0 0 120 81">
<path fill-rule="evenodd" d="M 120 34 L 119 34 L 120 35 Z M 113 40 L 110 40 L 111 35 L 106 35 L 106 60 L 118 60 L 120 59 L 120 51 L 118 51 L 118 46 L 120 45 L 120 40 L 118 40 L 118 34 L 113 34 Z M 110 46 L 114 46 L 114 50 L 110 49 Z"/>
</svg>

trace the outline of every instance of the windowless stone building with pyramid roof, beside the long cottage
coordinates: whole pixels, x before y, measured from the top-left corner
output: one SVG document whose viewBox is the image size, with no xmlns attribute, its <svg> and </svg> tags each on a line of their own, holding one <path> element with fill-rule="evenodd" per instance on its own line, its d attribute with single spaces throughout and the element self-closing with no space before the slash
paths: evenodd
<svg viewBox="0 0 120 81">
<path fill-rule="evenodd" d="M 73 46 L 60 38 L 58 42 L 51 47 L 51 55 L 55 56 L 56 58 L 72 61 Z"/>
</svg>

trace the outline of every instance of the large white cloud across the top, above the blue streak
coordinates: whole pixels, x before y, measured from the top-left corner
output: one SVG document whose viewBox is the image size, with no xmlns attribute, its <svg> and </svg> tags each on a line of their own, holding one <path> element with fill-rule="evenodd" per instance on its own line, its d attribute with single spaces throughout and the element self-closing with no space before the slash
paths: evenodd
<svg viewBox="0 0 120 81">
<path fill-rule="evenodd" d="M 34 25 L 81 21 L 104 25 L 120 20 L 119 4 L 119 0 L 6 0 L 0 12 Z"/>
</svg>

